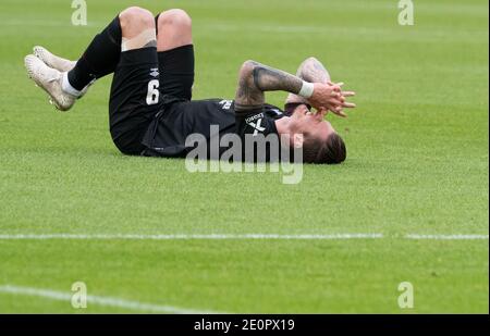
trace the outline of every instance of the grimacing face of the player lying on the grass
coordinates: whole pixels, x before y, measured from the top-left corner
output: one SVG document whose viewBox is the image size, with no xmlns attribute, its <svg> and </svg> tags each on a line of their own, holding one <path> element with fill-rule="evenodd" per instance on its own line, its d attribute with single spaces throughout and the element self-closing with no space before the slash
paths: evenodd
<svg viewBox="0 0 490 336">
<path fill-rule="evenodd" d="M 309 112 L 306 105 L 298 105 L 291 116 L 294 133 L 327 140 L 331 134 L 335 133 L 335 129 L 323 116 L 324 114 L 321 113 Z"/>
</svg>

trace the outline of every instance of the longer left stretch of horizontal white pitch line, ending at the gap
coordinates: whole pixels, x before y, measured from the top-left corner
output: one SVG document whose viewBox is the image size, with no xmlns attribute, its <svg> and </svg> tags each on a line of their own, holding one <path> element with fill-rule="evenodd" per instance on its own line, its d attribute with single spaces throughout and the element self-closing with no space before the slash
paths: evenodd
<svg viewBox="0 0 490 336">
<path fill-rule="evenodd" d="M 41 235 L 0 235 L 0 240 L 226 240 L 226 239 L 275 239 L 275 240 L 339 240 L 339 239 L 380 239 L 382 234 L 332 234 L 332 235 L 267 235 L 267 234 L 212 234 L 212 235 L 110 235 L 110 234 L 41 234 Z"/>
</svg>

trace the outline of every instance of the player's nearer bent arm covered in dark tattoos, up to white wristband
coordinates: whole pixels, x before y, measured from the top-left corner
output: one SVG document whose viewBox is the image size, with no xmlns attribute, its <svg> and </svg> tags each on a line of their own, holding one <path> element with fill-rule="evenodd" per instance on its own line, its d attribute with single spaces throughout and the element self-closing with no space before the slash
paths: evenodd
<svg viewBox="0 0 490 336">
<path fill-rule="evenodd" d="M 253 110 L 265 103 L 266 91 L 287 91 L 298 94 L 303 79 L 267 65 L 246 61 L 240 71 L 235 110 Z"/>
</svg>

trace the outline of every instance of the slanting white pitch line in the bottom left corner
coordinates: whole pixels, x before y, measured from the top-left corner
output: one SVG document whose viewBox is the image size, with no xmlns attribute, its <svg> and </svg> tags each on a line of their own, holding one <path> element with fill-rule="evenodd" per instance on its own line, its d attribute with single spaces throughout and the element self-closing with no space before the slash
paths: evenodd
<svg viewBox="0 0 490 336">
<path fill-rule="evenodd" d="M 30 296 L 30 297 L 40 297 L 45 299 L 56 300 L 56 301 L 65 301 L 66 303 L 71 303 L 72 295 L 65 291 L 58 291 L 51 289 L 40 289 L 33 287 L 21 287 L 14 285 L 3 285 L 0 286 L 0 293 L 2 294 L 12 294 L 12 295 L 21 295 L 21 296 Z M 208 310 L 195 310 L 195 309 L 186 309 L 173 306 L 161 306 L 155 303 L 145 303 L 133 300 L 125 300 L 113 297 L 102 297 L 102 296 L 94 296 L 87 295 L 87 306 L 101 306 L 101 307 L 113 307 L 113 308 L 122 308 L 140 312 L 154 312 L 154 313 L 170 313 L 170 314 L 217 314 L 219 312 L 208 311 Z"/>
</svg>

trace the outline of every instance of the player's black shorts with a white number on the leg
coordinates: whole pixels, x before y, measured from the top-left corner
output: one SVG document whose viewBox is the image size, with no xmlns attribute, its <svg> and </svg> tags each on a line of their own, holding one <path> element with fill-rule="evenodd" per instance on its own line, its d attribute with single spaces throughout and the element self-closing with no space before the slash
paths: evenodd
<svg viewBox="0 0 490 336">
<path fill-rule="evenodd" d="M 143 137 L 164 101 L 191 100 L 193 84 L 192 45 L 163 52 L 156 48 L 122 52 L 109 100 L 110 130 L 119 150 L 140 154 Z"/>
</svg>

